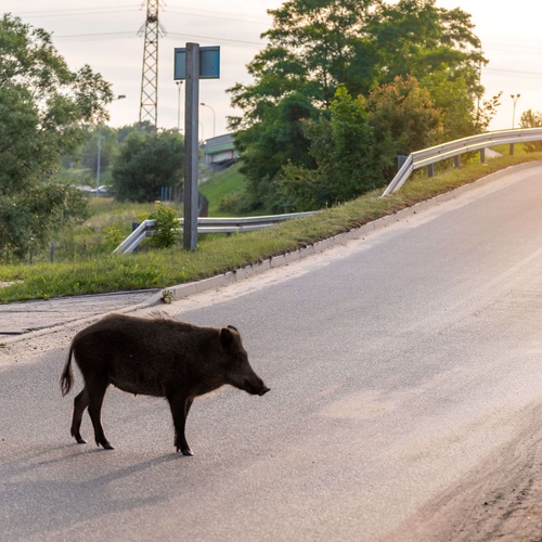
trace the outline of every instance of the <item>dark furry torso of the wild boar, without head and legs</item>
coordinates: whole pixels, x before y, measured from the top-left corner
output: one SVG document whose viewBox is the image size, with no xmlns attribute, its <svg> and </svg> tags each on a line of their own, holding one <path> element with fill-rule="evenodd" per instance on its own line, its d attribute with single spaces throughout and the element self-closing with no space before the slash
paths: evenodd
<svg viewBox="0 0 542 542">
<path fill-rule="evenodd" d="M 98 373 L 130 393 L 165 397 L 209 372 L 218 337 L 212 327 L 115 314 L 76 335 L 74 353 L 83 375 Z"/>
</svg>

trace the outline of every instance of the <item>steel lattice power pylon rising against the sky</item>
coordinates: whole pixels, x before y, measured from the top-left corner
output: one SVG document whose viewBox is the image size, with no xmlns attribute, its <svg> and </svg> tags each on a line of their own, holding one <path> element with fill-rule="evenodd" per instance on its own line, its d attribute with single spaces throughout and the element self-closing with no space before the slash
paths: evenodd
<svg viewBox="0 0 542 542">
<path fill-rule="evenodd" d="M 159 24 L 160 0 L 146 0 L 145 24 L 140 29 L 144 34 L 143 68 L 141 74 L 141 101 L 139 121 L 149 120 L 155 128 L 158 120 L 158 38 L 166 34 Z"/>
</svg>

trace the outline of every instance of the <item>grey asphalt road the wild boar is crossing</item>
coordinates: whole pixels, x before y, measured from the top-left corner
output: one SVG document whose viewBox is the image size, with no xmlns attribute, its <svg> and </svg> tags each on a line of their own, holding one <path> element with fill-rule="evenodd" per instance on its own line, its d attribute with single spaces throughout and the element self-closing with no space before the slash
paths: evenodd
<svg viewBox="0 0 542 542">
<path fill-rule="evenodd" d="M 196 400 L 194 457 L 175 453 L 165 401 L 115 389 L 116 449 L 73 441 L 57 384 L 72 330 L 1 349 L 0 538 L 475 540 L 464 512 L 488 502 L 473 485 L 522 468 L 540 438 L 541 217 L 542 166 L 519 168 L 164 306 L 238 327 L 271 388 Z"/>
</svg>

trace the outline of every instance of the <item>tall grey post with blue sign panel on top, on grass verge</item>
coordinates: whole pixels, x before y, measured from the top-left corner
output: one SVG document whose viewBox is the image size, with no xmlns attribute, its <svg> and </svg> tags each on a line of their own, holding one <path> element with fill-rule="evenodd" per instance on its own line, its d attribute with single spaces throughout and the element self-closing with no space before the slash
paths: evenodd
<svg viewBox="0 0 542 542">
<path fill-rule="evenodd" d="M 175 50 L 176 80 L 186 80 L 184 108 L 184 233 L 183 246 L 197 248 L 197 166 L 198 166 L 198 106 L 199 79 L 220 77 L 220 48 L 186 43 Z"/>
</svg>

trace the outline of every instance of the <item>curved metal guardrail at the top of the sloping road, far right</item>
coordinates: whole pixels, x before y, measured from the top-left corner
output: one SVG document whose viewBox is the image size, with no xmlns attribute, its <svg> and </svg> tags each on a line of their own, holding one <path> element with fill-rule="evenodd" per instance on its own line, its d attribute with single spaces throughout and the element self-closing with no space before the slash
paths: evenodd
<svg viewBox="0 0 542 542">
<path fill-rule="evenodd" d="M 479 133 L 469 138 L 457 139 L 449 143 L 424 149 L 423 151 L 416 151 L 408 156 L 406 160 L 400 167 L 399 171 L 387 185 L 382 195 L 387 196 L 388 194 L 398 191 L 414 169 L 429 166 L 446 158 L 459 156 L 463 153 L 485 150 L 486 147 L 492 145 L 526 143 L 528 141 L 540 140 L 542 140 L 542 128 L 521 128 L 519 130 L 502 130 Z"/>
</svg>

